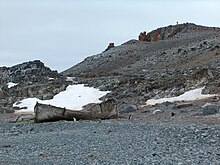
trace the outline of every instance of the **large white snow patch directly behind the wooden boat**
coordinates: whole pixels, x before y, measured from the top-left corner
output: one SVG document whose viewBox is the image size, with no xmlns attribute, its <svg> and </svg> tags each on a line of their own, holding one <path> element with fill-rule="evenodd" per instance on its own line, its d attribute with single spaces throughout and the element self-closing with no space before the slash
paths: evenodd
<svg viewBox="0 0 220 165">
<path fill-rule="evenodd" d="M 100 91 L 93 87 L 85 87 L 83 84 L 69 85 L 65 91 L 58 93 L 51 100 L 39 100 L 37 98 L 27 98 L 14 103 L 13 107 L 26 109 L 18 110 L 15 113 L 34 113 L 36 102 L 50 104 L 70 110 L 82 110 L 84 105 L 89 103 L 100 103 L 99 98 L 105 96 L 110 91 Z"/>
</svg>

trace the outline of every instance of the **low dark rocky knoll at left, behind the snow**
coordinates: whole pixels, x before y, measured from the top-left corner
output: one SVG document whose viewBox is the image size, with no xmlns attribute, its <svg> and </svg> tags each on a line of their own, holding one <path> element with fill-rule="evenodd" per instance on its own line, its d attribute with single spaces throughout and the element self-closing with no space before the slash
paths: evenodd
<svg viewBox="0 0 220 165">
<path fill-rule="evenodd" d="M 13 112 L 13 103 L 24 98 L 50 99 L 66 86 L 64 76 L 38 60 L 0 67 L 0 112 Z"/>
</svg>

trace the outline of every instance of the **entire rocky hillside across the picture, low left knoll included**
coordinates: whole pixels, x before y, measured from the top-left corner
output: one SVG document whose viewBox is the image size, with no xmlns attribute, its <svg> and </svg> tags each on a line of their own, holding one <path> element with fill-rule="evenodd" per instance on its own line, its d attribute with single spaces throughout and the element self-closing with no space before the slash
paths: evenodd
<svg viewBox="0 0 220 165">
<path fill-rule="evenodd" d="M 110 43 L 102 53 L 62 73 L 40 61 L 0 68 L 1 112 L 13 112 L 12 104 L 23 98 L 50 99 L 70 83 L 112 91 L 102 99 L 116 99 L 121 114 L 135 113 L 138 119 L 146 112 L 148 120 L 158 121 L 148 112 L 159 110 L 164 112 L 160 117 L 164 120 L 184 112 L 186 116 L 176 119 L 192 121 L 205 103 L 214 104 L 214 112 L 219 111 L 219 97 L 186 105 L 143 105 L 148 99 L 178 96 L 201 87 L 205 87 L 204 94 L 220 94 L 220 28 L 185 23 L 141 32 L 137 38 L 120 46 Z M 74 77 L 74 82 L 67 82 L 67 76 Z M 9 82 L 17 85 L 9 88 Z"/>
</svg>

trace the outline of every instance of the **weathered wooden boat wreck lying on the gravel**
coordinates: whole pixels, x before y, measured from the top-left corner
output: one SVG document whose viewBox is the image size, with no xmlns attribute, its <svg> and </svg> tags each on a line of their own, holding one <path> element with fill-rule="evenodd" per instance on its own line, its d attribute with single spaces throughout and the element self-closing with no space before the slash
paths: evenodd
<svg viewBox="0 0 220 165">
<path fill-rule="evenodd" d="M 95 120 L 111 119 L 118 117 L 117 102 L 115 99 L 108 99 L 99 104 L 88 104 L 83 110 L 70 110 L 37 103 L 34 107 L 35 123 L 58 121 L 58 120 Z"/>
</svg>

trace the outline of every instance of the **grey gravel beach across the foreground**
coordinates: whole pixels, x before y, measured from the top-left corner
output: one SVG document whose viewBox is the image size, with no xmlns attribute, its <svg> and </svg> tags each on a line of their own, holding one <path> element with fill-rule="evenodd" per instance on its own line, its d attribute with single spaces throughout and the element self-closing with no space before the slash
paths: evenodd
<svg viewBox="0 0 220 165">
<path fill-rule="evenodd" d="M 0 164 L 220 164 L 219 125 L 0 123 Z"/>
</svg>

